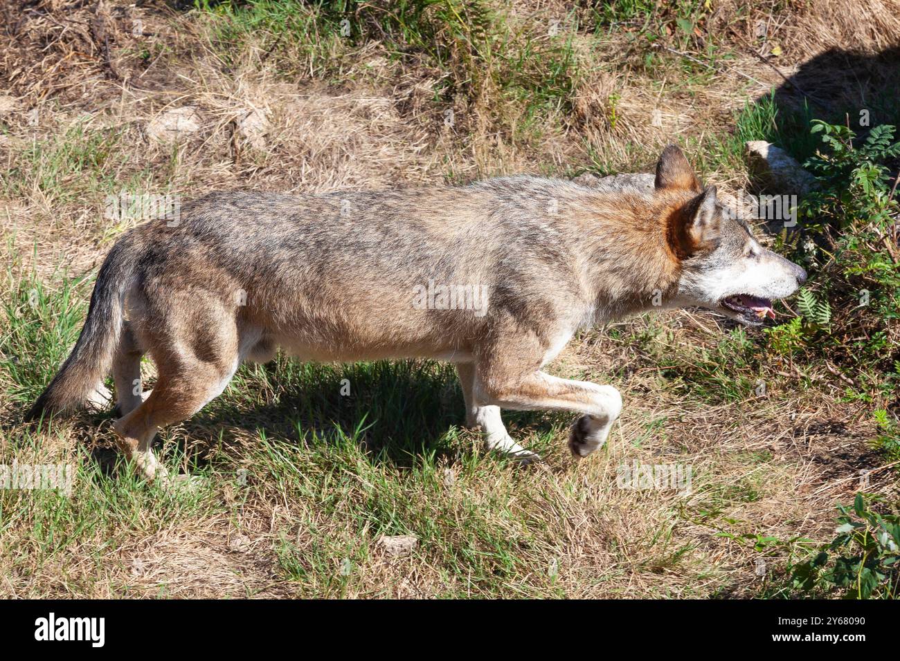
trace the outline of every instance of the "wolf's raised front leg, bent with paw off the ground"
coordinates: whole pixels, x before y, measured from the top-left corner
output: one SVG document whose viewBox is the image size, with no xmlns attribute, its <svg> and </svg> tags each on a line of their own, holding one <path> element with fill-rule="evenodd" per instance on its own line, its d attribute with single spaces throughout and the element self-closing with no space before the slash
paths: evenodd
<svg viewBox="0 0 900 661">
<path fill-rule="evenodd" d="M 543 371 L 517 374 L 501 362 L 479 364 L 474 397 L 501 408 L 549 409 L 581 413 L 572 425 L 569 449 L 587 457 L 607 441 L 609 429 L 622 412 L 622 396 L 612 386 L 559 379 Z"/>
</svg>

